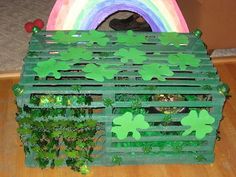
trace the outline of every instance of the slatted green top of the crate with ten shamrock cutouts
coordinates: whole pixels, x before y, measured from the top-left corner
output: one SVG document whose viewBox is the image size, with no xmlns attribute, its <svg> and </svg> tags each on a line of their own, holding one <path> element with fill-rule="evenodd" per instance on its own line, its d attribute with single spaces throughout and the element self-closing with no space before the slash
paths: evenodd
<svg viewBox="0 0 236 177">
<path fill-rule="evenodd" d="M 219 83 L 192 33 L 41 31 L 29 43 L 19 84 L 24 94 L 78 93 L 73 86 L 81 94 L 208 94 L 217 90 L 202 87 Z"/>
</svg>

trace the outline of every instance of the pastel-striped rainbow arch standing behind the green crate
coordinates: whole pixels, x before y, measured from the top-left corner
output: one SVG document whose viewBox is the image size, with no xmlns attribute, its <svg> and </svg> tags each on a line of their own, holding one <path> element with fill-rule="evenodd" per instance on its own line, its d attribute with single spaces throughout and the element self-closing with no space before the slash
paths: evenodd
<svg viewBox="0 0 236 177">
<path fill-rule="evenodd" d="M 120 10 L 142 15 L 154 32 L 189 32 L 176 0 L 57 0 L 47 30 L 96 29 Z"/>
</svg>

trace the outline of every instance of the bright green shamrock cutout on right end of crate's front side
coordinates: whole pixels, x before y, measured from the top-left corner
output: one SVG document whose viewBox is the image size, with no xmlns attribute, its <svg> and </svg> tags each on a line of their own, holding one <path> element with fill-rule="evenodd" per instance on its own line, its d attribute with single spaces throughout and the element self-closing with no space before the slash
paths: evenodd
<svg viewBox="0 0 236 177">
<path fill-rule="evenodd" d="M 181 124 L 184 126 L 190 126 L 185 130 L 182 136 L 187 136 L 193 131 L 196 131 L 196 138 L 203 139 L 207 133 L 212 132 L 213 128 L 211 124 L 215 122 L 215 118 L 210 116 L 206 110 L 201 110 L 198 116 L 196 110 L 192 110 L 186 117 L 181 120 Z"/>
</svg>

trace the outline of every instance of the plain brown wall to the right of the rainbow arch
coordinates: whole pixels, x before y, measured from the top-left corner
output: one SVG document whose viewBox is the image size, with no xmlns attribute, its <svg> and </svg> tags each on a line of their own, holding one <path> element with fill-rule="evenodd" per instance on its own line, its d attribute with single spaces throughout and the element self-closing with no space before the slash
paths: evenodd
<svg viewBox="0 0 236 177">
<path fill-rule="evenodd" d="M 203 32 L 208 49 L 236 48 L 236 0 L 177 0 L 190 31 Z"/>
</svg>

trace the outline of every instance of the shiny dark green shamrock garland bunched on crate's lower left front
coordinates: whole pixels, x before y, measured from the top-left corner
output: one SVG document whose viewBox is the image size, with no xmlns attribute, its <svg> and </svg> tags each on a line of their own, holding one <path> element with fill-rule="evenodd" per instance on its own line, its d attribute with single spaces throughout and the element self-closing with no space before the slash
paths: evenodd
<svg viewBox="0 0 236 177">
<path fill-rule="evenodd" d="M 41 168 L 67 164 L 82 174 L 89 172 L 87 162 L 93 160 L 93 141 L 97 122 L 93 119 L 37 121 L 31 117 L 18 119 L 21 141 L 26 153 L 34 153 Z M 31 151 L 29 151 L 29 149 Z"/>
</svg>

